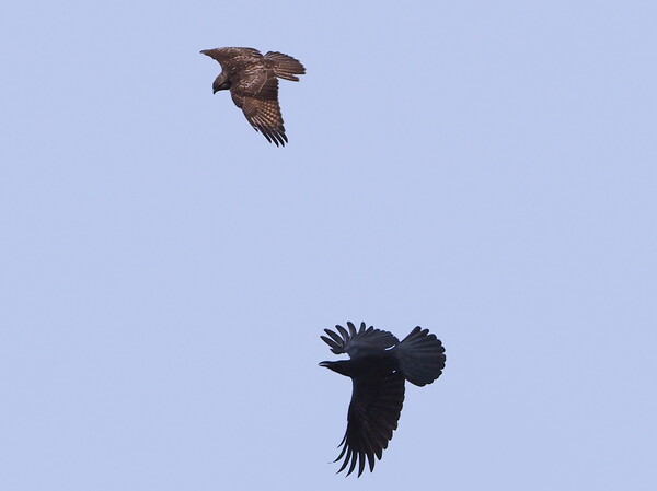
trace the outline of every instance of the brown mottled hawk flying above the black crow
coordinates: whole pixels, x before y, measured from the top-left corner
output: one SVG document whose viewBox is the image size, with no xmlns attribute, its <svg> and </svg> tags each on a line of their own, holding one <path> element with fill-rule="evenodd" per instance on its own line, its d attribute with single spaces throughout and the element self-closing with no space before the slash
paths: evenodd
<svg viewBox="0 0 657 491">
<path fill-rule="evenodd" d="M 216 48 L 200 51 L 221 65 L 221 73 L 212 83 L 212 91 L 230 90 L 246 120 L 267 141 L 285 147 L 288 141 L 278 105 L 278 79 L 299 81 L 306 73 L 303 65 L 291 56 L 267 51 L 263 56 L 253 48 Z"/>
</svg>

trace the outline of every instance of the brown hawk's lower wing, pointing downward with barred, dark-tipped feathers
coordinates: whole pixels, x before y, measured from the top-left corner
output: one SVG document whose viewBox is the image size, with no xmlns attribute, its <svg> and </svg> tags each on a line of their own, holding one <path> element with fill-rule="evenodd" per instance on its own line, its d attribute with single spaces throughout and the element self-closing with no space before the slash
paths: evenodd
<svg viewBox="0 0 657 491">
<path fill-rule="evenodd" d="M 276 147 L 287 142 L 278 105 L 278 79 L 262 66 L 247 67 L 233 78 L 230 94 L 246 120 Z"/>
</svg>

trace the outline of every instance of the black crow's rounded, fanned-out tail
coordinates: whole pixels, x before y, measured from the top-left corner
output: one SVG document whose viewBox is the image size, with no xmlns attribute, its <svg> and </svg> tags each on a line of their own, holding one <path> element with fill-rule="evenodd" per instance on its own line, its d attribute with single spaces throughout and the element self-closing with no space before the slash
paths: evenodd
<svg viewBox="0 0 657 491">
<path fill-rule="evenodd" d="M 395 348 L 400 369 L 412 384 L 430 384 L 445 369 L 445 348 L 428 329 L 416 327 Z"/>
</svg>

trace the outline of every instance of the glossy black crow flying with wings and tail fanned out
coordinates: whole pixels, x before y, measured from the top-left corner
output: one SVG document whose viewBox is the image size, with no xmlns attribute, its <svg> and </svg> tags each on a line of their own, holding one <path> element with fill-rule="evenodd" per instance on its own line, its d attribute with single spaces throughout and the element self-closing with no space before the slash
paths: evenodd
<svg viewBox="0 0 657 491">
<path fill-rule="evenodd" d="M 347 476 L 358 465 L 358 477 L 367 463 L 374 470 L 374 456 L 381 460 L 383 449 L 396 430 L 404 402 L 404 382 L 419 387 L 430 384 L 445 369 L 445 348 L 435 335 L 419 326 L 402 342 L 391 332 L 360 328 L 347 323 L 337 332 L 324 329 L 321 338 L 335 354 L 347 353 L 349 360 L 320 363 L 351 378 L 353 393 L 347 413 L 347 431 L 334 461 L 344 457 L 338 472 L 349 466 Z"/>
</svg>

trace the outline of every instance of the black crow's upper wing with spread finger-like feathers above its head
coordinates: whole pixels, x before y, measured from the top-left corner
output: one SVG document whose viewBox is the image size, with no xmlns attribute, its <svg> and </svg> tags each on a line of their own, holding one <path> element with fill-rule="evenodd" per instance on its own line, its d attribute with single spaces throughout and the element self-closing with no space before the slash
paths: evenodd
<svg viewBox="0 0 657 491">
<path fill-rule="evenodd" d="M 366 329 L 365 323 L 360 323 L 358 330 L 351 323 L 347 323 L 347 327 L 349 331 L 342 326 L 335 326 L 339 335 L 331 329 L 324 329 L 328 337 L 321 336 L 335 354 L 347 353 L 350 358 L 355 358 L 364 353 L 387 350 L 400 342 L 387 330 L 374 329 L 372 326 Z"/>
</svg>

